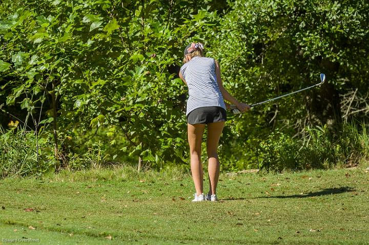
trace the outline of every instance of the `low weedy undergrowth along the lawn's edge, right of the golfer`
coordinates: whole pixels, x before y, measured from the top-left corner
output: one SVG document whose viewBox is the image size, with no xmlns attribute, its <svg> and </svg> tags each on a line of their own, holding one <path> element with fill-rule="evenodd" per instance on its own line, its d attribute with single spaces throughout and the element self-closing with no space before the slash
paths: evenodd
<svg viewBox="0 0 369 245">
<path fill-rule="evenodd" d="M 369 156 L 367 125 L 345 124 L 334 132 L 326 125 L 306 128 L 295 140 L 281 132 L 260 143 L 260 165 L 265 169 L 354 167 Z"/>
</svg>

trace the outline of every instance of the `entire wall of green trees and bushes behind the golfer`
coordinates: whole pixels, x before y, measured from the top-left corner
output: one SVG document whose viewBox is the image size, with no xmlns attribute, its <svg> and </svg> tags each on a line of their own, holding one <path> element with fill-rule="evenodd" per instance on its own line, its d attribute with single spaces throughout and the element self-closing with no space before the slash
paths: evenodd
<svg viewBox="0 0 369 245">
<path fill-rule="evenodd" d="M 224 170 L 309 168 L 296 151 L 315 156 L 311 167 L 331 166 L 353 150 L 306 148 L 306 128 L 330 125 L 308 135 L 319 147 L 337 145 L 331 135 L 341 127 L 340 96 L 354 88 L 368 93 L 368 11 L 363 0 L 6 0 L 0 123 L 14 119 L 11 114 L 36 138 L 47 129 L 56 171 L 138 159 L 157 169 L 186 164 L 187 91 L 177 73 L 186 44 L 202 41 L 240 101 L 262 101 L 327 75 L 320 91 L 230 117 L 220 142 Z"/>
</svg>

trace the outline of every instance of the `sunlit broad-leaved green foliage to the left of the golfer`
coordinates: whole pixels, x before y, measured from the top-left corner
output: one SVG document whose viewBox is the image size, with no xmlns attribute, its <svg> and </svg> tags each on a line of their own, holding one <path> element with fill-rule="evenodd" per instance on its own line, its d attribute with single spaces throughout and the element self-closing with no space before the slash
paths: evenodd
<svg viewBox="0 0 369 245">
<path fill-rule="evenodd" d="M 187 8 L 191 2 L 180 4 L 185 11 L 160 1 L 26 1 L 23 8 L 10 7 L 10 14 L 2 13 L 7 48 L 0 63 L 12 78 L 3 85 L 7 105 L 42 114 L 50 94 L 57 115 L 49 110 L 42 116 L 57 116 L 64 135 L 105 127 L 105 143 L 125 136 L 120 155 L 140 155 L 153 165 L 182 162 L 185 118 L 177 105 L 184 84 L 168 69 L 185 37 L 210 25 L 205 20 L 215 13 L 203 9 L 179 20 L 194 11 Z"/>
</svg>

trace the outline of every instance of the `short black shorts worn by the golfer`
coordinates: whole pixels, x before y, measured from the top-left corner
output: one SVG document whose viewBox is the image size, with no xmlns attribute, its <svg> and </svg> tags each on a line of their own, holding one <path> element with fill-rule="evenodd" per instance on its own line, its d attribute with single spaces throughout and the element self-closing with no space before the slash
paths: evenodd
<svg viewBox="0 0 369 245">
<path fill-rule="evenodd" d="M 200 107 L 187 115 L 187 122 L 189 124 L 208 124 L 224 121 L 227 121 L 227 112 L 219 106 Z"/>
</svg>

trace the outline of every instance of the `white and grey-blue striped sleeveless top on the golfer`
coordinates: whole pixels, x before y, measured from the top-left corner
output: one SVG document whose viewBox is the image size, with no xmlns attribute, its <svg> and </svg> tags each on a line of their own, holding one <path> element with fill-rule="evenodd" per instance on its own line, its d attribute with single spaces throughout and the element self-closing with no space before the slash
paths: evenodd
<svg viewBox="0 0 369 245">
<path fill-rule="evenodd" d="M 193 57 L 180 69 L 189 88 L 186 116 L 194 109 L 219 106 L 226 109 L 215 74 L 215 60 L 208 57 Z"/>
</svg>

